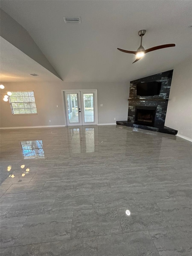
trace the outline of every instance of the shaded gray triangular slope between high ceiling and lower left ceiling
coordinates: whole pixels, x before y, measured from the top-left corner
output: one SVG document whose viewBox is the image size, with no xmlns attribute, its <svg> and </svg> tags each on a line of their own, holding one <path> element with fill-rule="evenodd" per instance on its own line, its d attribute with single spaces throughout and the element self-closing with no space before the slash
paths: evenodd
<svg viewBox="0 0 192 256">
<path fill-rule="evenodd" d="M 5 13 L 2 9 L 0 9 L 0 15 L 1 15 L 1 24 L 0 24 L 1 37 L 4 38 L 13 46 L 15 46 L 20 51 L 22 51 L 24 54 L 29 56 L 31 59 L 36 61 L 42 67 L 46 68 L 49 72 L 54 74 L 56 77 L 61 79 L 61 77 L 58 75 L 58 73 L 55 71 L 55 69 L 46 59 L 46 57 L 41 52 L 41 50 L 39 49 L 37 44 L 34 42 L 32 37 L 29 35 L 29 33 L 19 23 L 17 23 L 12 17 L 10 17 L 7 13 Z M 26 64 L 27 63 L 28 62 L 26 62 Z M 21 64 L 18 63 L 18 65 L 21 65 Z M 3 63 L 1 62 L 1 67 L 5 69 L 8 66 L 3 66 Z M 9 70 L 7 70 L 7 72 L 9 72 Z M 2 76 L 1 78 L 3 79 Z"/>
</svg>

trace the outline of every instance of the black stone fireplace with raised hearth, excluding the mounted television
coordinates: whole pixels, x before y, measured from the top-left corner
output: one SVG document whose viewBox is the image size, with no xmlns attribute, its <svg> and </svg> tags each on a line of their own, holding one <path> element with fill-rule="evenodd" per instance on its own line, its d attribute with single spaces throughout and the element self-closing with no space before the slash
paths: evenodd
<svg viewBox="0 0 192 256">
<path fill-rule="evenodd" d="M 117 121 L 117 125 L 177 134 L 177 131 L 164 126 L 173 70 L 144 77 L 130 82 L 128 120 Z M 137 95 L 137 83 L 161 83 L 159 95 Z"/>
</svg>

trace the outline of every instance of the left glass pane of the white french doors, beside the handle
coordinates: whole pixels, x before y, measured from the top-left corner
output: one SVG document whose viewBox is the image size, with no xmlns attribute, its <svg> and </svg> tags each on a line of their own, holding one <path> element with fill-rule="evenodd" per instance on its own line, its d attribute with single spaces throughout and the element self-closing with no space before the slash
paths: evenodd
<svg viewBox="0 0 192 256">
<path fill-rule="evenodd" d="M 67 93 L 67 109 L 70 123 L 79 123 L 77 93 Z"/>
</svg>

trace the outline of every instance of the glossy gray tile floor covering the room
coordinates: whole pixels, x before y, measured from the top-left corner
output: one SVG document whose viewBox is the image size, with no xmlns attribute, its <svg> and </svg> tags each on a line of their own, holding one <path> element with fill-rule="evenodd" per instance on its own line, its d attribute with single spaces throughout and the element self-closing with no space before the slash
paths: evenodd
<svg viewBox="0 0 192 256">
<path fill-rule="evenodd" d="M 1 255 L 191 256 L 191 151 L 116 125 L 1 130 Z"/>
</svg>

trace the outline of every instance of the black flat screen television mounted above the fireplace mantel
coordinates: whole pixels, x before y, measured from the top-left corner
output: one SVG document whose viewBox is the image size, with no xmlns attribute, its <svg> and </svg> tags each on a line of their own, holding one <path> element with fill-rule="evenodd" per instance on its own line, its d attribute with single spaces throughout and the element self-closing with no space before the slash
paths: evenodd
<svg viewBox="0 0 192 256">
<path fill-rule="evenodd" d="M 137 83 L 137 95 L 139 96 L 159 95 L 160 90 L 160 82 Z"/>
</svg>

